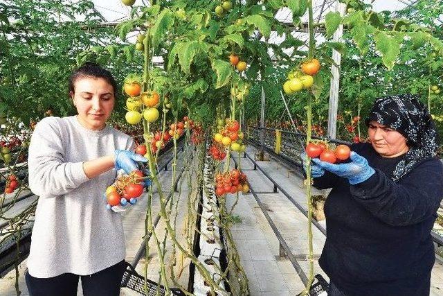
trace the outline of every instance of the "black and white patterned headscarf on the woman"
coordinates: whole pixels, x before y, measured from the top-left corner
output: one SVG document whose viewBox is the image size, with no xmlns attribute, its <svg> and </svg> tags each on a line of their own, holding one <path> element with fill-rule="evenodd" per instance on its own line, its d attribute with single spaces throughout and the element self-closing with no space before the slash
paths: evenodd
<svg viewBox="0 0 443 296">
<path fill-rule="evenodd" d="M 412 171 L 417 164 L 437 155 L 437 131 L 426 106 L 418 96 L 402 94 L 377 98 L 365 120 L 377 121 L 402 134 L 409 150 L 395 166 L 392 180 L 397 182 Z"/>
</svg>

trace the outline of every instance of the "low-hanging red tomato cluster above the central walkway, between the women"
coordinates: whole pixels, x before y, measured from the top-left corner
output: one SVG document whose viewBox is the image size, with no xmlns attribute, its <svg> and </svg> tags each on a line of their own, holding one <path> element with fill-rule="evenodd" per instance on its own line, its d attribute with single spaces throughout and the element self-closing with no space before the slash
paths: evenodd
<svg viewBox="0 0 443 296">
<path fill-rule="evenodd" d="M 246 175 L 237 169 L 226 173 L 219 173 L 215 175 L 215 195 L 234 194 L 239 191 L 247 193 L 249 186 L 246 180 Z"/>
</svg>

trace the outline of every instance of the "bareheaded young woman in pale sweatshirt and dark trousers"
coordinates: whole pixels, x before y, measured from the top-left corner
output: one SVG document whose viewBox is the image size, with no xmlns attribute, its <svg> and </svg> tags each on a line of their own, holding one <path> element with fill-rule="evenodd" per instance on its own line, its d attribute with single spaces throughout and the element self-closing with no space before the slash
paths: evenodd
<svg viewBox="0 0 443 296">
<path fill-rule="evenodd" d="M 116 170 L 130 173 L 147 159 L 134 141 L 107 125 L 116 81 L 97 64 L 85 64 L 69 80 L 78 114 L 46 117 L 29 147 L 29 186 L 39 195 L 28 256 L 30 295 L 119 295 L 125 269 L 122 218 L 102 195 Z"/>
</svg>

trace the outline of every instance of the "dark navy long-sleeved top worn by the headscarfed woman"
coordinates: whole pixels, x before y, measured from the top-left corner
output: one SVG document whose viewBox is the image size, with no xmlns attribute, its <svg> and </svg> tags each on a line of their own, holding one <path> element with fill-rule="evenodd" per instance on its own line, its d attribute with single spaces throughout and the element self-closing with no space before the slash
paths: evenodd
<svg viewBox="0 0 443 296">
<path fill-rule="evenodd" d="M 351 149 L 375 174 L 356 185 L 329 172 L 314 179 L 316 188 L 332 188 L 320 267 L 345 295 L 429 295 L 442 162 L 426 159 L 395 183 L 390 175 L 401 156 L 383 158 L 370 143 Z"/>
</svg>

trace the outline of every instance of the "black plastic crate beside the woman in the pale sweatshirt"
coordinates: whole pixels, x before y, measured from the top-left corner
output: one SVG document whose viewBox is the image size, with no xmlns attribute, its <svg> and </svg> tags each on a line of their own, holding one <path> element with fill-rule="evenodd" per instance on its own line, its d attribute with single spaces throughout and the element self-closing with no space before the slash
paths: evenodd
<svg viewBox="0 0 443 296">
<path fill-rule="evenodd" d="M 145 296 L 155 296 L 157 295 L 157 288 L 160 291 L 160 295 L 165 295 L 165 287 L 157 284 L 155 281 L 151 281 L 150 279 L 146 279 L 147 284 L 147 294 L 145 294 L 145 278 L 141 275 L 138 275 L 136 270 L 132 267 L 131 264 L 127 263 L 127 268 L 122 278 L 122 287 L 129 288 L 131 290 L 140 293 Z M 185 295 L 181 290 L 172 288 L 170 289 L 172 295 Z"/>
</svg>

